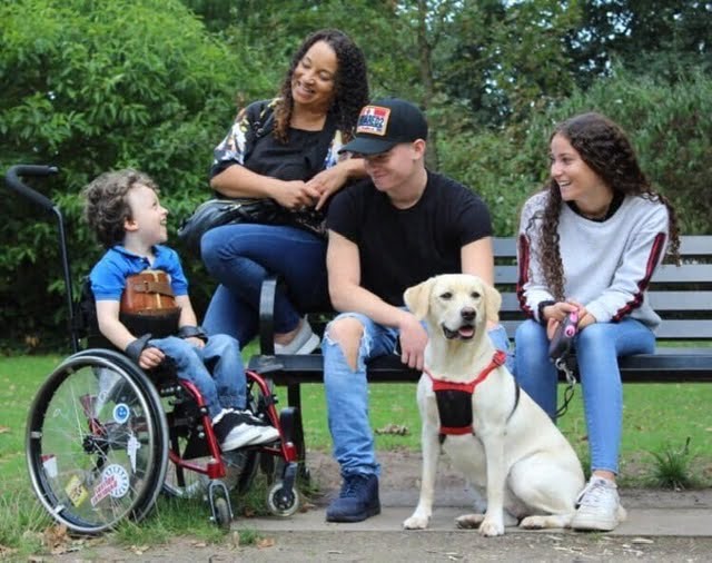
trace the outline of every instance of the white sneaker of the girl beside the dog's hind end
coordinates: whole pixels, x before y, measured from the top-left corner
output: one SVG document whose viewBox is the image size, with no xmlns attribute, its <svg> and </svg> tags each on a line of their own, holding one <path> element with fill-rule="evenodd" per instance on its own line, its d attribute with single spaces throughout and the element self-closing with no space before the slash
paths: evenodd
<svg viewBox="0 0 712 563">
<path fill-rule="evenodd" d="M 576 500 L 576 513 L 571 521 L 574 530 L 610 532 L 625 520 L 619 487 L 613 481 L 592 475 Z"/>
</svg>

